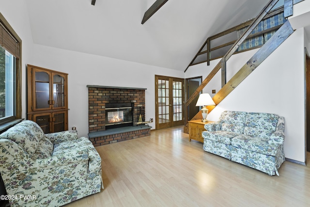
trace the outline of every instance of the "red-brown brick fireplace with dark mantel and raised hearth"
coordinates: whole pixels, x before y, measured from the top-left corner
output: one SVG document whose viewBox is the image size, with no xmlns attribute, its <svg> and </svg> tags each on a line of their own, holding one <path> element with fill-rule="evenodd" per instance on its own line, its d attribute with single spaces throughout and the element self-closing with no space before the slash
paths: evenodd
<svg viewBox="0 0 310 207">
<path fill-rule="evenodd" d="M 145 88 L 87 87 L 88 135 L 94 146 L 150 135 L 151 127 L 136 125 L 145 120 Z"/>
</svg>

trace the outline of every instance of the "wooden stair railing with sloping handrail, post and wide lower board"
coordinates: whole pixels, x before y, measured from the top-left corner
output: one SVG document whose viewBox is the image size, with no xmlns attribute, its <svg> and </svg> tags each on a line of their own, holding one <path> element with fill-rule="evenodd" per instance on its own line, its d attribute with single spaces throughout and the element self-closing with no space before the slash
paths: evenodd
<svg viewBox="0 0 310 207">
<path fill-rule="evenodd" d="M 226 74 L 226 62 L 233 55 L 234 51 L 242 44 L 242 42 L 247 38 L 247 36 L 254 30 L 258 23 L 263 19 L 263 17 L 270 11 L 270 9 L 277 3 L 278 0 L 270 0 L 268 4 L 263 8 L 262 12 L 253 20 L 253 23 L 248 27 L 248 30 L 235 42 L 232 48 L 223 56 L 215 68 L 210 72 L 202 84 L 196 89 L 196 91 L 189 97 L 186 101 L 186 114 L 188 105 L 198 96 L 199 92 L 207 85 L 207 83 L 215 76 L 220 68 L 222 68 L 222 74 Z M 228 94 L 230 94 L 233 89 L 239 85 L 259 64 L 263 62 L 279 45 L 293 33 L 293 29 L 289 23 L 286 21 L 281 28 L 261 47 L 253 57 L 229 80 L 221 90 L 213 97 L 214 102 L 219 104 Z M 209 112 L 215 107 L 207 107 Z M 185 119 L 184 132 L 188 133 L 188 123 Z"/>
</svg>

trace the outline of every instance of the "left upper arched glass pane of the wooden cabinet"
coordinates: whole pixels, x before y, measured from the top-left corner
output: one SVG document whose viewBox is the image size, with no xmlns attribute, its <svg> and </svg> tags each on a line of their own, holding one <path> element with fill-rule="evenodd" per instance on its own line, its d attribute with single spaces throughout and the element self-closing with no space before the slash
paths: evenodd
<svg viewBox="0 0 310 207">
<path fill-rule="evenodd" d="M 49 108 L 49 75 L 35 72 L 35 104 L 37 109 Z"/>
</svg>

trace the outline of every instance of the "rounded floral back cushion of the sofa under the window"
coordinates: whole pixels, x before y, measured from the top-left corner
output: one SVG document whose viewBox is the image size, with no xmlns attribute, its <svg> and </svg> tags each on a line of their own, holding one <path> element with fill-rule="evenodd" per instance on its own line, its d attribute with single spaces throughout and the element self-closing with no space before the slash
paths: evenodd
<svg viewBox="0 0 310 207">
<path fill-rule="evenodd" d="M 3 132 L 0 138 L 12 140 L 17 143 L 18 146 L 23 148 L 30 156 L 35 152 L 39 142 L 30 128 L 17 125 Z"/>
</svg>

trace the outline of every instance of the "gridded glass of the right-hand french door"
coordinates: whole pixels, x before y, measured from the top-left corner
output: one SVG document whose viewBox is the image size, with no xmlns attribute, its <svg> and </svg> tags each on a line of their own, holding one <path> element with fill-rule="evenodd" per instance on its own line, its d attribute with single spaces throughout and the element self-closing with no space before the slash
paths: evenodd
<svg viewBox="0 0 310 207">
<path fill-rule="evenodd" d="M 173 121 L 182 120 L 182 82 L 173 81 Z"/>
</svg>

